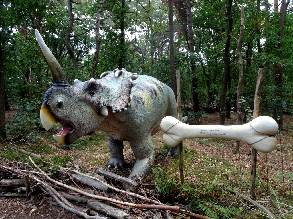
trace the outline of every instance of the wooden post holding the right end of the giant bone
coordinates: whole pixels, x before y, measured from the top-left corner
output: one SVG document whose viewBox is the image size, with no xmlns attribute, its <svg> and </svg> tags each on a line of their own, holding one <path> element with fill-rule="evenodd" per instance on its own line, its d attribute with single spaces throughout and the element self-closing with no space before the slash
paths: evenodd
<svg viewBox="0 0 293 219">
<path fill-rule="evenodd" d="M 263 68 L 258 69 L 258 78 L 256 82 L 255 95 L 254 95 L 254 107 L 253 107 L 253 119 L 258 117 L 259 103 L 260 103 L 260 91 L 263 84 Z M 256 176 L 256 150 L 251 147 L 251 175 L 249 194 L 251 198 L 255 199 L 255 176 Z"/>
</svg>

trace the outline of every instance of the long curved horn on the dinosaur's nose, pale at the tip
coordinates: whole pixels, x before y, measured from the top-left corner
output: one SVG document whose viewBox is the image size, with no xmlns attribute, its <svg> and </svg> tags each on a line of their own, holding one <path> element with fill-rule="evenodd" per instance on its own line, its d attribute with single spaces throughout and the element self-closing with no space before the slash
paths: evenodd
<svg viewBox="0 0 293 219">
<path fill-rule="evenodd" d="M 37 29 L 35 29 L 35 35 L 38 40 L 38 44 L 39 44 L 47 62 L 48 62 L 50 69 L 51 69 L 54 84 L 56 84 L 56 83 L 62 84 L 62 85 L 69 84 L 65 78 L 65 75 L 64 75 L 62 68 L 60 67 L 57 59 L 51 53 L 50 49 L 45 44 L 41 34 L 39 33 L 39 31 Z"/>
</svg>

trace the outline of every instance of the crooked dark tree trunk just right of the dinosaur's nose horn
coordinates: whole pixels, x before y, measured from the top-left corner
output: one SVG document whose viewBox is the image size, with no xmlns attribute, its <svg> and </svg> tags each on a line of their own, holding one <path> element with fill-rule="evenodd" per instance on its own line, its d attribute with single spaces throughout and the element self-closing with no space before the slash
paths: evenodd
<svg viewBox="0 0 293 219">
<path fill-rule="evenodd" d="M 66 31 L 66 35 L 65 35 L 65 46 L 66 46 L 67 51 L 68 51 L 70 58 L 72 60 L 74 69 L 78 69 L 76 57 L 74 55 L 72 48 L 70 47 L 70 33 L 71 33 L 71 30 L 73 27 L 72 1 L 67 0 L 67 4 L 68 4 L 69 24 L 67 26 L 67 31 Z"/>
</svg>

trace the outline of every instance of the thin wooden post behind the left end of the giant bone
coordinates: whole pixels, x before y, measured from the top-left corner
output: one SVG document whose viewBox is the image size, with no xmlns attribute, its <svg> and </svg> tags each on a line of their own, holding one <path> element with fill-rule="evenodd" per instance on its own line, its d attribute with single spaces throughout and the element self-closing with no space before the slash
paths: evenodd
<svg viewBox="0 0 293 219">
<path fill-rule="evenodd" d="M 180 71 L 176 71 L 176 84 L 177 84 L 177 113 L 178 119 L 182 120 L 181 112 L 181 92 L 180 92 Z M 179 143 L 180 148 L 180 158 L 179 158 L 179 173 L 180 173 L 180 182 L 184 182 L 184 173 L 183 173 L 183 142 Z"/>
</svg>

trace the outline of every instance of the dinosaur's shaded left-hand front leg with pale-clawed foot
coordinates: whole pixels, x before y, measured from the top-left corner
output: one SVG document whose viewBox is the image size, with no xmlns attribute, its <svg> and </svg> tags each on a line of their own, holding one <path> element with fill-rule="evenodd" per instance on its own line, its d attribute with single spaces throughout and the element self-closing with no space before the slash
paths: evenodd
<svg viewBox="0 0 293 219">
<path fill-rule="evenodd" d="M 123 141 L 115 140 L 110 135 L 108 135 L 108 147 L 110 150 L 110 161 L 108 162 L 108 168 L 123 168 L 125 166 L 123 157 Z"/>
</svg>

